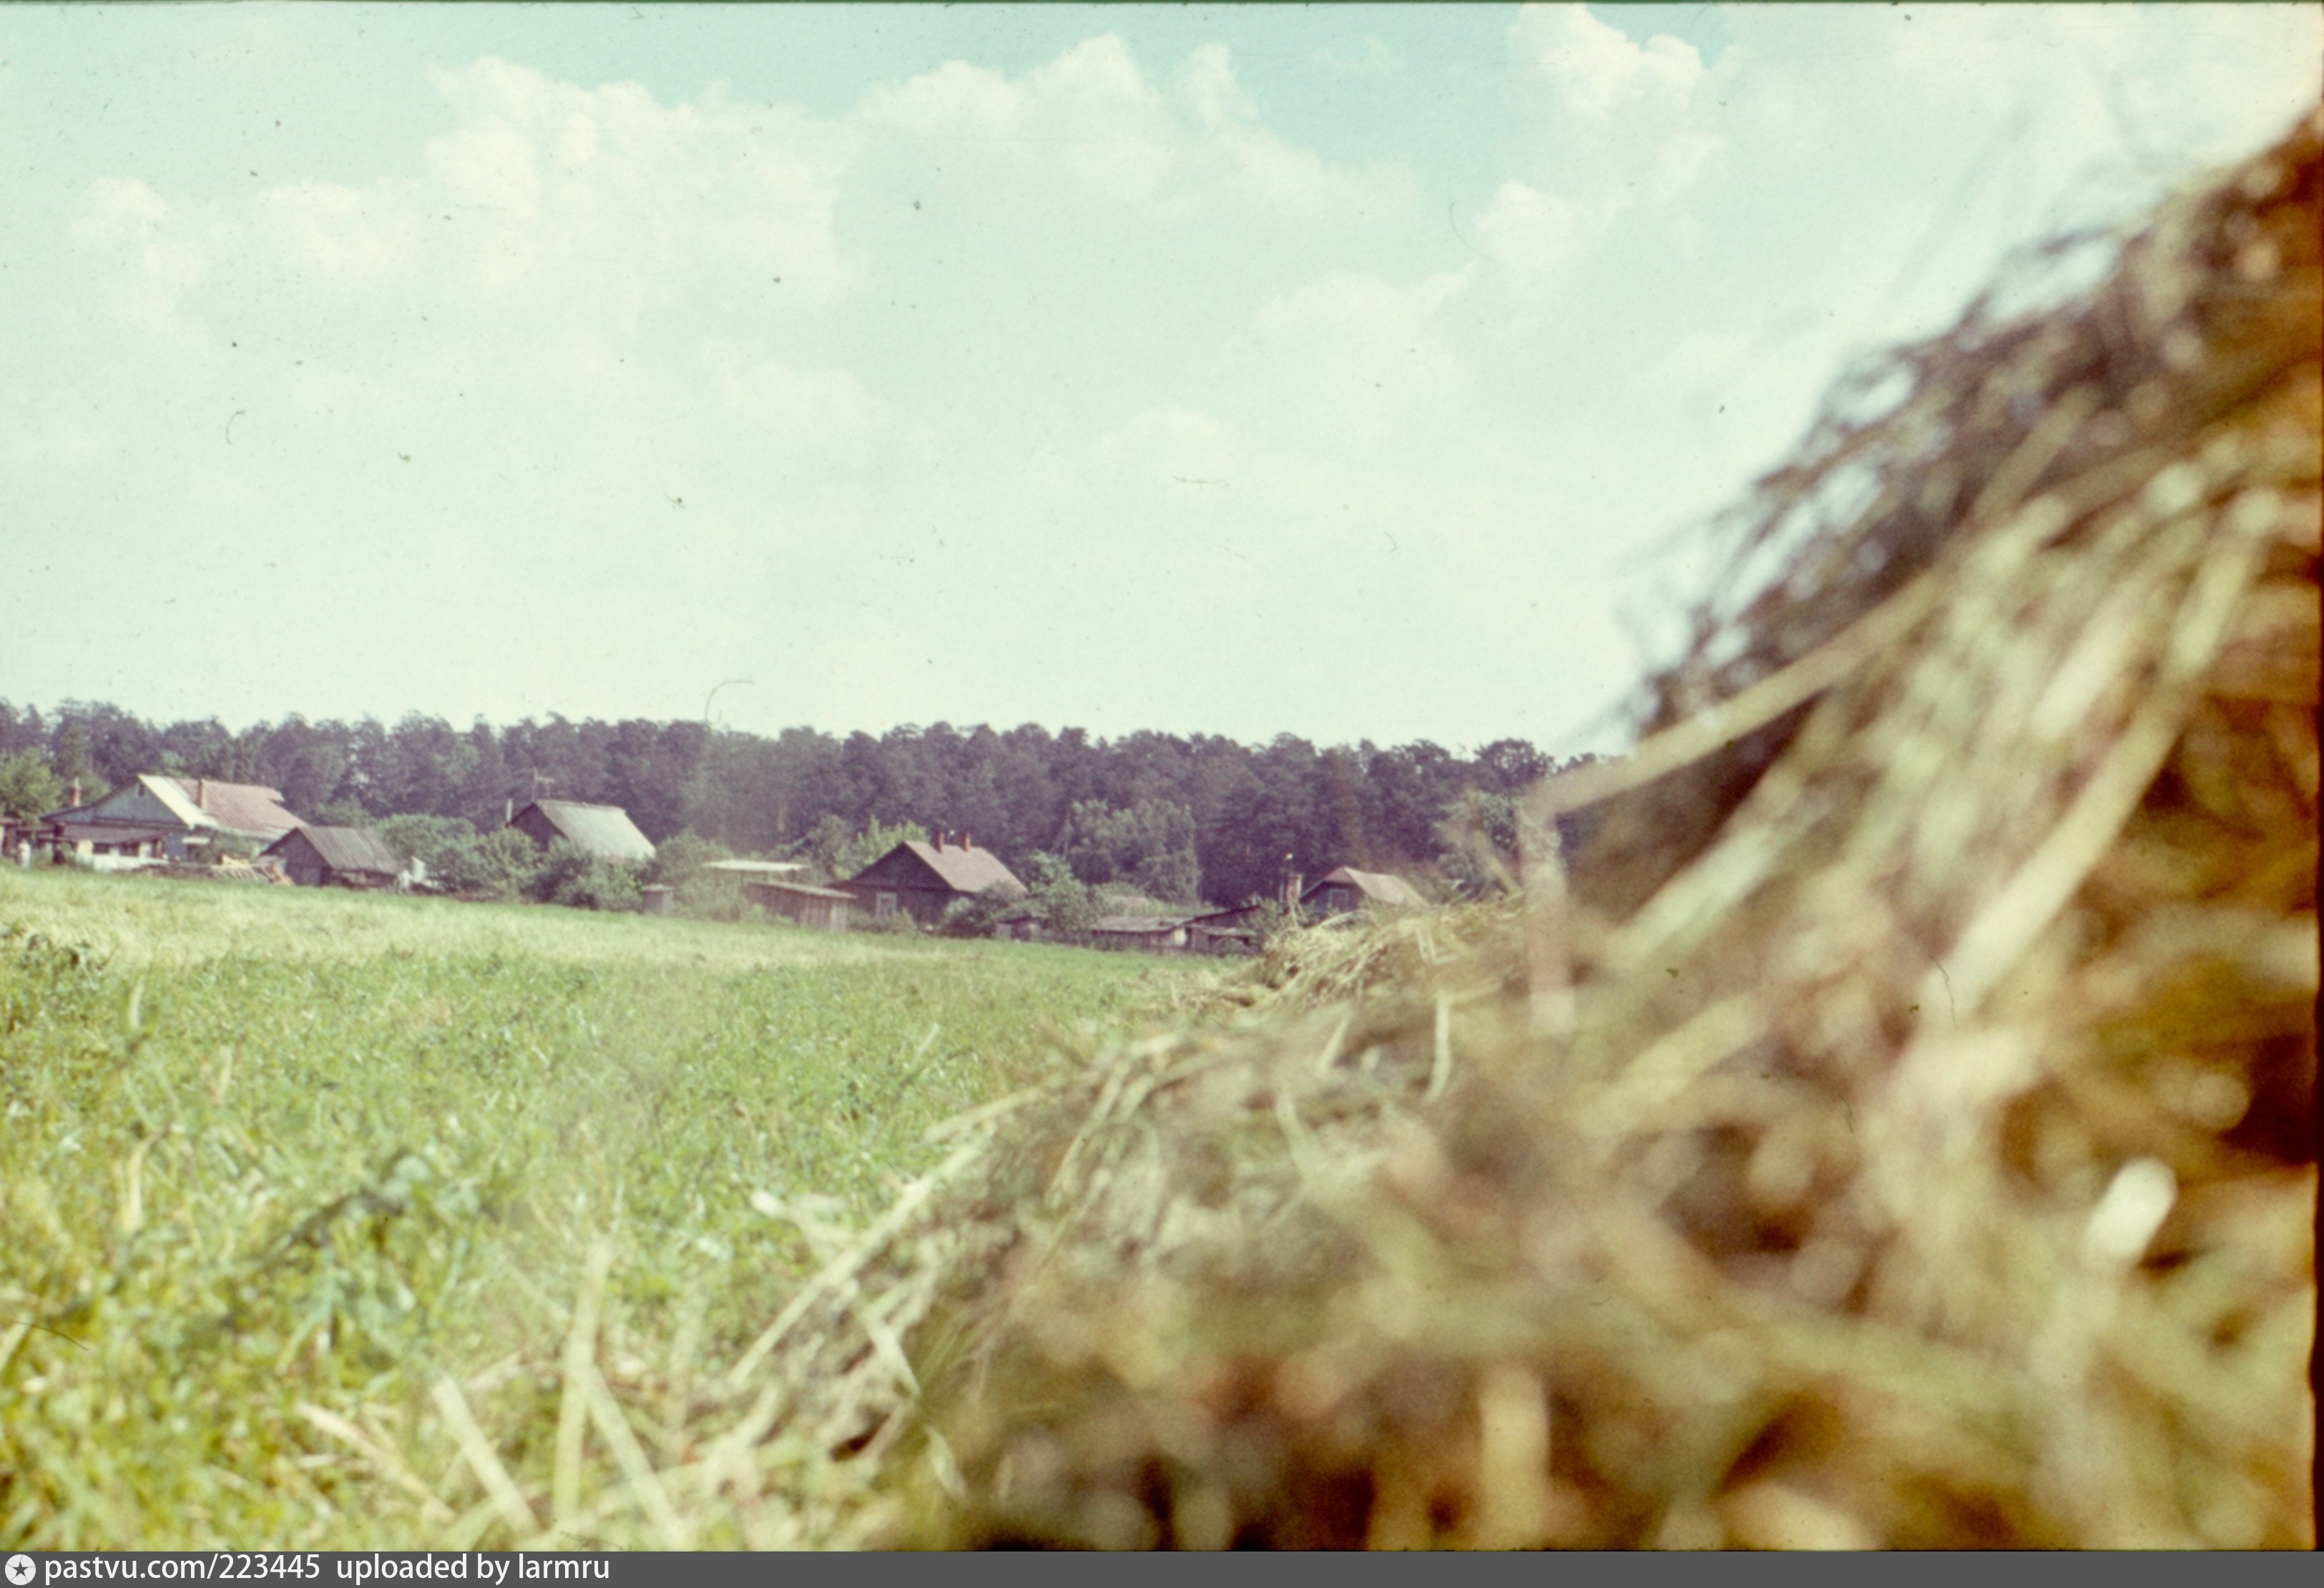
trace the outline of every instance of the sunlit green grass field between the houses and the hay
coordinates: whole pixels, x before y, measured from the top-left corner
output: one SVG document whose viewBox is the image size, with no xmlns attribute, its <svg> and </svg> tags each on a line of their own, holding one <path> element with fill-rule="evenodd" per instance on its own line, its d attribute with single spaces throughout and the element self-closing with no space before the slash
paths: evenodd
<svg viewBox="0 0 2324 1588">
<path fill-rule="evenodd" d="M 0 1546 L 490 1539 L 437 1386 L 546 1488 L 595 1246 L 607 1379 L 683 1404 L 930 1125 L 1215 974 L 0 870 Z"/>
</svg>

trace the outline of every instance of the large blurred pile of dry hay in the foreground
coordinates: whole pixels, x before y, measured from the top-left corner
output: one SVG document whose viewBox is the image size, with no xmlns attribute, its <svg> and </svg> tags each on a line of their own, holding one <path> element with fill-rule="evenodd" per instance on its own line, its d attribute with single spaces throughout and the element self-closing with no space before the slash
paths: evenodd
<svg viewBox="0 0 2324 1588">
<path fill-rule="evenodd" d="M 1843 388 L 1738 514 L 1773 581 L 1536 802 L 1604 809 L 1571 886 L 1541 844 L 964 1121 L 697 1493 L 762 1541 L 2310 1544 L 2319 140 Z"/>
</svg>

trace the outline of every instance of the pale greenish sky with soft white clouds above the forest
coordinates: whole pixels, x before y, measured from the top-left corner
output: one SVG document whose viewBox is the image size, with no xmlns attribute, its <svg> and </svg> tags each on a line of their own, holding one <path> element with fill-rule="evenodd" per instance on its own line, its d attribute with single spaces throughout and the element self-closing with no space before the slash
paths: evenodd
<svg viewBox="0 0 2324 1588">
<path fill-rule="evenodd" d="M 2317 5 L 0 7 L 0 698 L 1620 749 Z"/>
</svg>

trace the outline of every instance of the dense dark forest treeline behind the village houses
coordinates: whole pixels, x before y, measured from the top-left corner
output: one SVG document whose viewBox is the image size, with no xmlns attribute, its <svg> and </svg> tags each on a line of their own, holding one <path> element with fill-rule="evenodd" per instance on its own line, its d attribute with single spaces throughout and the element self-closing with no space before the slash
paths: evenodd
<svg viewBox="0 0 2324 1588">
<path fill-rule="evenodd" d="M 1573 763 L 1566 763 L 1573 765 Z M 532 797 L 621 804 L 646 837 L 693 832 L 739 853 L 832 853 L 874 823 L 951 830 L 1011 867 L 1062 858 L 1088 884 L 1157 900 L 1234 904 L 1285 872 L 1334 865 L 1471 874 L 1466 835 L 1508 849 L 1511 797 L 1564 770 L 1522 739 L 1473 756 L 1415 742 L 1318 749 L 1290 735 L 1225 737 L 1081 728 L 892 728 L 776 737 L 704 723 L 523 721 L 460 730 L 286 716 L 232 732 L 216 718 L 149 723 L 112 704 L 53 711 L 0 700 L 0 807 L 84 797 L 137 772 L 270 784 L 318 823 L 456 816 L 497 828 Z"/>
</svg>

